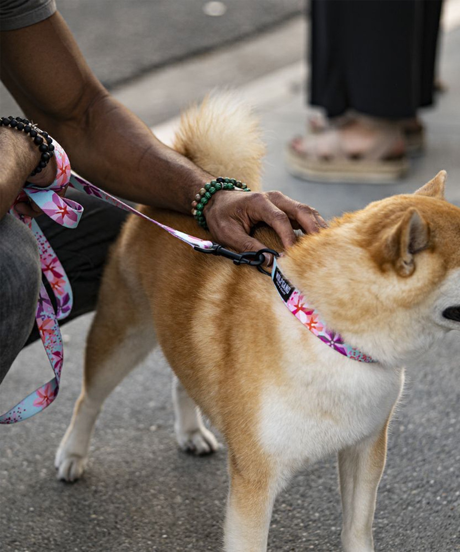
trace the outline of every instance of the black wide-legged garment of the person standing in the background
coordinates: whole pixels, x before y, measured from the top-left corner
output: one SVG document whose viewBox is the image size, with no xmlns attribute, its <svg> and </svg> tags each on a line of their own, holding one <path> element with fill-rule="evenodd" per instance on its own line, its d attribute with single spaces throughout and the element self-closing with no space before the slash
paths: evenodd
<svg viewBox="0 0 460 552">
<path fill-rule="evenodd" d="M 311 0 L 310 103 L 409 118 L 433 102 L 442 0 Z"/>
</svg>

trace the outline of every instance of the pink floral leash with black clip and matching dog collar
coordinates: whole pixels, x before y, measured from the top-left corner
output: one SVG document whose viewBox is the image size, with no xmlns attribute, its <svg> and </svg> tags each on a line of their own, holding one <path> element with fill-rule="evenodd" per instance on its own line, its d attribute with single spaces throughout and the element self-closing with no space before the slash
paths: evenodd
<svg viewBox="0 0 460 552">
<path fill-rule="evenodd" d="M 265 261 L 263 253 L 268 252 L 273 254 L 273 270 L 271 277 L 279 295 L 290 312 L 292 312 L 310 332 L 314 333 L 321 341 L 340 354 L 353 360 L 359 360 L 360 362 L 377 362 L 368 355 L 358 351 L 358 349 L 344 343 L 339 334 L 326 328 L 324 322 L 320 320 L 318 312 L 305 304 L 304 297 L 300 291 L 295 289 L 281 273 L 281 270 L 279 270 L 276 262 L 276 251 L 261 250 L 258 252 L 235 253 L 226 250 L 219 244 L 210 240 L 201 240 L 200 238 L 161 224 L 161 222 L 140 213 L 138 210 L 126 205 L 123 201 L 97 188 L 83 178 L 72 174 L 66 152 L 56 141 L 54 141 L 54 144 L 57 162 L 57 173 L 54 182 L 46 188 L 28 184 L 23 188 L 23 191 L 18 195 L 10 209 L 10 214 L 17 217 L 24 222 L 24 224 L 27 224 L 33 231 L 39 246 L 41 270 L 55 295 L 56 312 L 52 306 L 46 288 L 42 283 L 35 314 L 40 338 L 45 347 L 51 368 L 54 371 L 54 378 L 30 393 L 8 412 L 1 415 L 0 423 L 10 424 L 27 420 L 27 418 L 34 416 L 36 413 L 41 412 L 49 406 L 56 399 L 57 393 L 59 392 L 62 364 L 64 363 L 64 349 L 58 321 L 65 319 L 65 317 L 70 314 L 72 309 L 72 289 L 62 264 L 59 262 L 56 253 L 52 250 L 43 232 L 40 230 L 39 225 L 35 220 L 30 219 L 30 217 L 19 215 L 17 211 L 15 211 L 14 205 L 29 197 L 52 220 L 67 228 L 75 228 L 80 221 L 83 207 L 75 201 L 65 197 L 61 198 L 60 195 L 58 195 L 58 192 L 67 185 L 88 195 L 93 195 L 103 201 L 107 201 L 107 203 L 115 205 L 120 209 L 134 213 L 142 217 L 142 219 L 153 222 L 171 235 L 179 238 L 179 240 L 188 243 L 188 245 L 192 246 L 197 251 L 224 256 L 232 259 L 235 264 L 255 266 L 264 274 L 269 275 L 269 273 L 261 268 L 261 264 Z"/>
</svg>

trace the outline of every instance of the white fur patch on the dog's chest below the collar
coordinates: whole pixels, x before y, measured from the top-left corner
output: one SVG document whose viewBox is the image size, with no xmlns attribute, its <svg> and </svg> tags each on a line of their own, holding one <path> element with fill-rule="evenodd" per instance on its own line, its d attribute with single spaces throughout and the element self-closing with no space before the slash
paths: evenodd
<svg viewBox="0 0 460 552">
<path fill-rule="evenodd" d="M 281 383 L 267 385 L 261 395 L 261 445 L 293 467 L 378 432 L 403 386 L 402 369 L 347 359 L 317 341 L 320 365 L 311 354 L 293 353 L 284 359 Z"/>
</svg>

